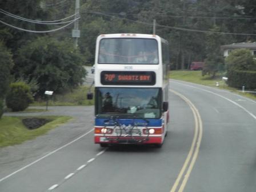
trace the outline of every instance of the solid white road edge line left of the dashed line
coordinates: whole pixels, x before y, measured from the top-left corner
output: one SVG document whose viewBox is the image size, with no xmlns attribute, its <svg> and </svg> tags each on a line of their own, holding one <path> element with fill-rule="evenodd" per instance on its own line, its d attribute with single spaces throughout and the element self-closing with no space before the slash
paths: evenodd
<svg viewBox="0 0 256 192">
<path fill-rule="evenodd" d="M 52 154 L 56 153 L 57 151 L 59 151 L 59 150 L 61 150 L 61 149 L 65 148 L 66 146 L 71 145 L 72 143 L 74 143 L 74 142 L 78 141 L 79 139 L 81 139 L 81 138 L 85 137 L 85 135 L 87 135 L 87 134 L 91 133 L 91 131 L 93 131 L 93 130 L 94 130 L 94 129 L 91 129 L 91 130 L 90 130 L 90 131 L 88 131 L 87 133 L 85 133 L 85 134 L 81 135 L 80 137 L 78 137 L 78 138 L 74 139 L 73 141 L 71 141 L 71 142 L 67 143 L 66 145 L 63 145 L 62 147 L 59 147 L 58 149 L 56 149 L 56 150 L 54 150 L 54 151 L 51 151 L 51 152 L 50 152 L 50 153 L 48 153 L 47 155 L 45 155 L 45 156 L 43 156 L 43 157 L 41 157 L 41 158 L 37 159 L 36 161 L 34 161 L 34 162 L 30 163 L 29 165 L 26 165 L 26 166 L 22 167 L 21 169 L 19 169 L 19 170 L 17 170 L 17 171 L 14 171 L 13 173 L 11 173 L 11 174 L 7 175 L 6 177 L 3 177 L 2 179 L 0 179 L 0 182 L 2 182 L 3 180 L 5 180 L 5 179 L 7 179 L 7 178 L 11 177 L 12 175 L 14 175 L 14 174 L 16 174 L 16 173 L 19 173 L 20 171 L 22 171 L 22 170 L 26 169 L 27 167 L 30 167 L 31 165 L 34 165 L 35 163 L 37 163 L 37 162 L 41 161 L 42 159 L 44 159 L 44 158 L 46 158 L 46 157 L 48 157 L 48 156 L 50 156 L 50 155 L 52 155 Z"/>
</svg>

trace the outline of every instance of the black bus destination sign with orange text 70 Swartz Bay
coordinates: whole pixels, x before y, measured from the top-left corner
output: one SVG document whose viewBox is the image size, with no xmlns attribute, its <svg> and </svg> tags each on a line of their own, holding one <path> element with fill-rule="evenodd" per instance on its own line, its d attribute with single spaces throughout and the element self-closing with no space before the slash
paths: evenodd
<svg viewBox="0 0 256 192">
<path fill-rule="evenodd" d="M 102 85 L 155 85 L 153 71 L 102 71 Z"/>
</svg>

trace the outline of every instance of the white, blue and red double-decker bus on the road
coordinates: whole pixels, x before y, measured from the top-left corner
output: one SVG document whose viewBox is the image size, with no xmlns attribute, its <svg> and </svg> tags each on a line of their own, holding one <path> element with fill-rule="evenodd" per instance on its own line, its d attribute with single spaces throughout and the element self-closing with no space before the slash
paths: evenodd
<svg viewBox="0 0 256 192">
<path fill-rule="evenodd" d="M 99 35 L 94 142 L 102 147 L 121 143 L 161 147 L 169 121 L 168 71 L 169 45 L 158 35 Z"/>
</svg>

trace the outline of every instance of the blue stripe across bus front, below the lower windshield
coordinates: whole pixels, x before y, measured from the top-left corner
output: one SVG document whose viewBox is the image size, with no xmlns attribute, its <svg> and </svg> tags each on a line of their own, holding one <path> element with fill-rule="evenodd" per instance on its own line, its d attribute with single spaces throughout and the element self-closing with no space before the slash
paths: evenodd
<svg viewBox="0 0 256 192">
<path fill-rule="evenodd" d="M 95 118 L 95 126 L 105 126 L 106 118 Z M 146 123 L 143 119 L 117 119 L 121 125 L 133 125 L 133 123 Z M 113 121 L 110 120 L 112 123 Z M 161 127 L 163 119 L 147 119 L 147 127 Z"/>
</svg>

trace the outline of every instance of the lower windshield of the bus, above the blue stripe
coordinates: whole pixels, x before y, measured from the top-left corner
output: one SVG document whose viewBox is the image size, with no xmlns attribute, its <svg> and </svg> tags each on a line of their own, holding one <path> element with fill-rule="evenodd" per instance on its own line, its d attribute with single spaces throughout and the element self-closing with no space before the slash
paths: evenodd
<svg viewBox="0 0 256 192">
<path fill-rule="evenodd" d="M 98 118 L 160 118 L 160 88 L 97 88 L 95 114 Z"/>
</svg>

